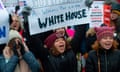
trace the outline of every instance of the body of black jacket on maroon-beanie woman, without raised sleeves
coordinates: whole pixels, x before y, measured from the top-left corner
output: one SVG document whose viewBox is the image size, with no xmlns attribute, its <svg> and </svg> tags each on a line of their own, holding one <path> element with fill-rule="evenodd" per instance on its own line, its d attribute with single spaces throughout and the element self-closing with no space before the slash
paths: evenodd
<svg viewBox="0 0 120 72">
<path fill-rule="evenodd" d="M 45 72 L 76 72 L 76 60 L 72 51 L 59 56 L 49 54 L 41 61 Z"/>
</svg>

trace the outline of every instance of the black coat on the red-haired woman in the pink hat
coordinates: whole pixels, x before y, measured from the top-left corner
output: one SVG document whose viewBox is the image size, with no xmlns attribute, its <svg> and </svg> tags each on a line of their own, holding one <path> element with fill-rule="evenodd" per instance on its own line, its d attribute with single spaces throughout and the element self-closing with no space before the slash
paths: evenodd
<svg viewBox="0 0 120 72">
<path fill-rule="evenodd" d="M 98 65 L 100 60 L 100 67 Z M 120 51 L 119 50 L 92 50 L 89 52 L 86 61 L 86 72 L 120 72 Z"/>
</svg>

